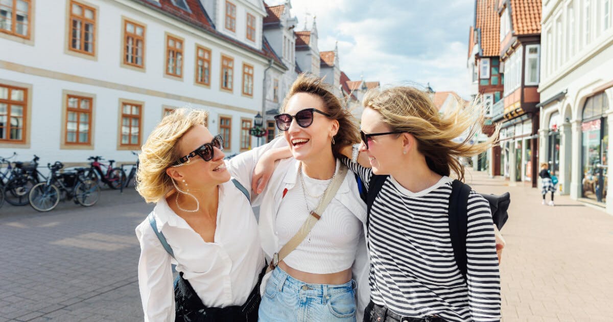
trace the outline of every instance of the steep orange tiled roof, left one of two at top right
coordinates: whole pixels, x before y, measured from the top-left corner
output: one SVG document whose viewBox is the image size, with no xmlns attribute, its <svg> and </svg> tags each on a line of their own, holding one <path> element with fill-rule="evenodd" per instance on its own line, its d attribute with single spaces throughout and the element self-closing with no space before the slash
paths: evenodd
<svg viewBox="0 0 613 322">
<path fill-rule="evenodd" d="M 481 30 L 481 50 L 484 57 L 498 56 L 500 52 L 500 16 L 496 10 L 496 1 L 477 0 L 474 28 Z"/>
</svg>

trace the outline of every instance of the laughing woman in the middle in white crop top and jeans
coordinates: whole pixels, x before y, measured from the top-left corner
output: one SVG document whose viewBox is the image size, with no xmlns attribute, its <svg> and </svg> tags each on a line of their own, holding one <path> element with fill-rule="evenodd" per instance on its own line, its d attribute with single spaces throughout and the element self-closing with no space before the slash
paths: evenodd
<svg viewBox="0 0 613 322">
<path fill-rule="evenodd" d="M 269 262 L 317 207 L 340 167 L 345 167 L 337 161 L 340 147 L 359 141 L 351 113 L 319 78 L 300 75 L 282 112 L 275 117 L 276 125 L 292 158 L 278 162 L 263 191 L 254 189 L 260 193 L 253 203 L 261 205 L 259 230 Z M 257 162 L 252 154 L 259 149 L 232 158 L 229 171 L 251 174 Z M 354 174 L 341 179 L 310 234 L 262 281 L 260 321 L 361 318 L 369 293 L 366 207 Z"/>
</svg>

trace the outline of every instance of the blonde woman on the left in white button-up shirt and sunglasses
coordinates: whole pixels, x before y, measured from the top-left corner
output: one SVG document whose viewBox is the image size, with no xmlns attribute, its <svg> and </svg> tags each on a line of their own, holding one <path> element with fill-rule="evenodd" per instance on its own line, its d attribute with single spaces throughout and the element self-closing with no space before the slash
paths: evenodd
<svg viewBox="0 0 613 322">
<path fill-rule="evenodd" d="M 137 190 L 156 203 L 136 228 L 145 321 L 256 321 L 265 266 L 251 173 L 230 180 L 207 113 L 164 117 L 139 156 Z M 174 293 L 171 263 L 180 276 Z"/>
</svg>

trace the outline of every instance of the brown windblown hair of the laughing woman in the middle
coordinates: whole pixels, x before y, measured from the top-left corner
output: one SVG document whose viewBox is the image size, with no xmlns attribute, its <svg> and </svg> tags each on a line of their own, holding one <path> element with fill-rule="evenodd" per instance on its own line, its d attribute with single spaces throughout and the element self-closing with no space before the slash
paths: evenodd
<svg viewBox="0 0 613 322">
<path fill-rule="evenodd" d="M 324 112 L 330 114 L 333 120 L 338 121 L 338 132 L 334 136 L 332 145 L 332 153 L 336 158 L 341 158 L 342 147 L 360 142 L 355 117 L 351 111 L 343 107 L 340 99 L 332 94 L 332 86 L 324 83 L 324 79 L 313 74 L 300 74 L 285 96 L 281 112 L 285 112 L 287 102 L 297 93 L 313 94 L 321 98 L 324 102 Z"/>
</svg>

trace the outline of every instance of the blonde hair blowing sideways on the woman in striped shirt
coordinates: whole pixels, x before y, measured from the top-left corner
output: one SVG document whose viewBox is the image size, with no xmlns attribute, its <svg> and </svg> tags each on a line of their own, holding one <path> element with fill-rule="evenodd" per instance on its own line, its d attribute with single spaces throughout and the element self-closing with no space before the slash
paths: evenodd
<svg viewBox="0 0 613 322">
<path fill-rule="evenodd" d="M 440 175 L 457 174 L 464 180 L 464 167 L 460 157 L 470 157 L 486 151 L 495 144 L 500 126 L 485 142 L 470 144 L 484 122 L 484 111 L 478 98 L 470 104 L 459 100 L 457 109 L 441 115 L 432 99 L 412 86 L 375 88 L 364 96 L 364 107 L 381 114 L 381 120 L 390 131 L 408 132 L 417 141 L 417 151 L 425 156 L 428 167 Z M 454 139 L 467 134 L 462 142 Z"/>
</svg>

